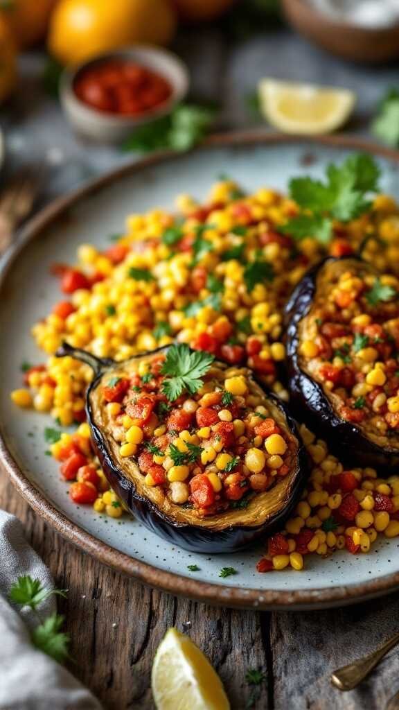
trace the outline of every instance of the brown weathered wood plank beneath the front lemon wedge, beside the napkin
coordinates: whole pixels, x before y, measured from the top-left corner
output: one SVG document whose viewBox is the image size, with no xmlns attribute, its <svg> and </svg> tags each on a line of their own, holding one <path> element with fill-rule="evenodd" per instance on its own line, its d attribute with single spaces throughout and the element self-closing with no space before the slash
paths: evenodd
<svg viewBox="0 0 399 710">
<path fill-rule="evenodd" d="M 263 636 L 268 636 L 268 615 L 176 599 L 112 572 L 45 525 L 1 472 L 0 508 L 18 515 L 56 584 L 69 589 L 59 608 L 72 638 L 75 663 L 70 670 L 106 709 L 153 708 L 151 663 L 165 631 L 174 625 L 187 631 L 214 663 L 233 709 L 244 709 L 251 694 L 246 670 L 267 667 Z M 259 690 L 253 708 L 266 710 L 267 684 Z"/>
</svg>

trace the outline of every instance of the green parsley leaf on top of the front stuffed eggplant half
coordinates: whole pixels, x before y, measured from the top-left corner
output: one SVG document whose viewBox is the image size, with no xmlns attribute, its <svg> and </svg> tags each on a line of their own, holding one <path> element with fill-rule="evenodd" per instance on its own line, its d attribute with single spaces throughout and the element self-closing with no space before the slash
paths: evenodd
<svg viewBox="0 0 399 710">
<path fill-rule="evenodd" d="M 168 377 L 162 383 L 162 391 L 173 400 L 180 397 L 184 390 L 195 394 L 203 381 L 202 375 L 209 370 L 214 356 L 202 350 L 190 350 L 185 343 L 170 346 L 161 374 Z"/>
</svg>

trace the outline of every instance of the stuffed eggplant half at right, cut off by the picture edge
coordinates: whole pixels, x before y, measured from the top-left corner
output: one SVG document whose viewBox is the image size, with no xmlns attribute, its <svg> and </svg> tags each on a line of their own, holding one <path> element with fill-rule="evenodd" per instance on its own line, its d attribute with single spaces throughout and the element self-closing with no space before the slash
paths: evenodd
<svg viewBox="0 0 399 710">
<path fill-rule="evenodd" d="M 399 283 L 357 258 L 327 258 L 286 315 L 294 410 L 354 466 L 399 464 Z"/>
</svg>

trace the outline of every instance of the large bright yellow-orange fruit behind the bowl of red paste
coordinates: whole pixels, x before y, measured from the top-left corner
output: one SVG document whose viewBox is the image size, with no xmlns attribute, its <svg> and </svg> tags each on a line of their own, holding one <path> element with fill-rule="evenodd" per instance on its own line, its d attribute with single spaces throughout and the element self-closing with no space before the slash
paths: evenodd
<svg viewBox="0 0 399 710">
<path fill-rule="evenodd" d="M 175 33 L 168 0 L 60 0 L 48 48 L 62 64 L 134 43 L 168 44 Z"/>
</svg>

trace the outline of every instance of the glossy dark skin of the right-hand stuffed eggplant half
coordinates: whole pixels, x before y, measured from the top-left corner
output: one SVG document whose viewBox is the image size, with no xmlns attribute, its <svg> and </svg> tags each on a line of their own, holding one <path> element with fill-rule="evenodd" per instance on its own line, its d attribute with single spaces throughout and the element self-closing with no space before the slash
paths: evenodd
<svg viewBox="0 0 399 710">
<path fill-rule="evenodd" d="M 322 386 L 300 367 L 299 324 L 312 307 L 317 279 L 329 264 L 346 261 L 363 265 L 356 257 L 327 257 L 312 267 L 293 291 L 285 307 L 288 386 L 293 413 L 327 441 L 329 448 L 348 466 L 371 466 L 381 474 L 392 474 L 399 466 L 399 452 L 379 447 L 358 427 L 337 416 Z M 371 268 L 369 264 L 365 264 Z"/>
</svg>

